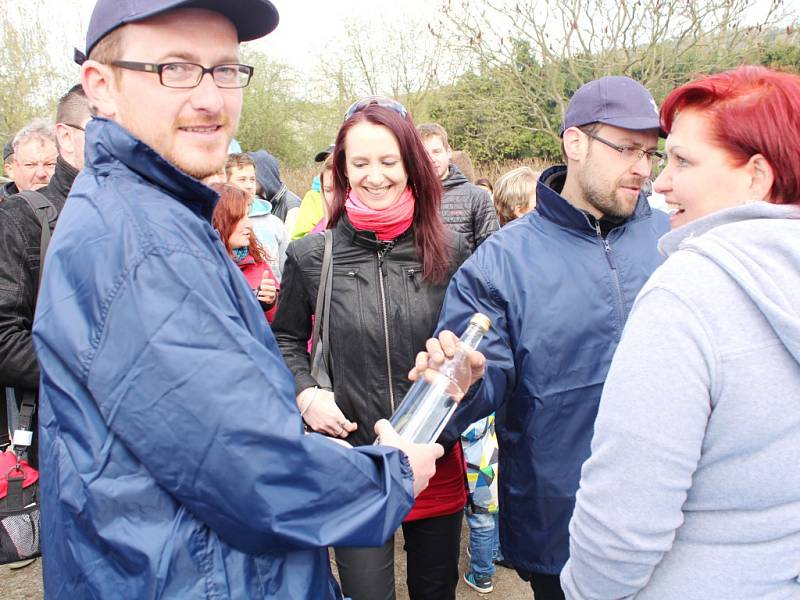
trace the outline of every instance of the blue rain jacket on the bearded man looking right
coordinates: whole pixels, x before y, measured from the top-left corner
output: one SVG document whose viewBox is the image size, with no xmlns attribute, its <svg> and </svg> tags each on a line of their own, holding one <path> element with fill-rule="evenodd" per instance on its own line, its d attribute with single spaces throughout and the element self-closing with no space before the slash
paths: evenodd
<svg viewBox="0 0 800 600">
<path fill-rule="evenodd" d="M 483 383 L 449 429 L 463 431 L 497 409 L 503 556 L 518 570 L 545 574 L 567 561 L 606 373 L 634 298 L 663 261 L 656 243 L 669 229 L 667 215 L 640 196 L 606 247 L 587 215 L 549 186 L 565 173 L 545 171 L 536 211 L 461 266 L 437 328 L 461 331 L 475 312 L 492 319 L 480 347 Z"/>
</svg>

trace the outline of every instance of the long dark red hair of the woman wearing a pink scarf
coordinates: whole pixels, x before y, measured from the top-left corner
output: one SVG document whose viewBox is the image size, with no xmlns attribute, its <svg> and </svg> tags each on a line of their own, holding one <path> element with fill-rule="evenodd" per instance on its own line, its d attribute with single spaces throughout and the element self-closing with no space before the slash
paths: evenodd
<svg viewBox="0 0 800 600">
<path fill-rule="evenodd" d="M 439 212 L 442 203 L 442 183 L 433 170 L 425 146 L 409 114 L 403 118 L 390 108 L 371 104 L 344 122 L 336 136 L 333 151 L 333 199 L 328 227 L 336 225 L 345 213 L 345 200 L 350 191 L 347 181 L 345 138 L 350 129 L 362 121 L 386 127 L 397 140 L 400 157 L 408 174 L 408 186 L 414 193 L 412 227 L 417 256 L 422 262 L 422 275 L 429 281 L 444 281 L 450 273 L 450 249 Z"/>
</svg>

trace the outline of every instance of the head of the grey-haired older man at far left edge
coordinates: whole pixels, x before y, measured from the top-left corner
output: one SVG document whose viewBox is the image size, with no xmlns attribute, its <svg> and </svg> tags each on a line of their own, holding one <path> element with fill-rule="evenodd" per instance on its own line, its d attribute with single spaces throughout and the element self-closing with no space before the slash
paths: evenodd
<svg viewBox="0 0 800 600">
<path fill-rule="evenodd" d="M 46 186 L 53 176 L 58 156 L 52 123 L 34 119 L 17 132 L 11 147 L 13 183 L 0 188 L 0 193 L 7 199 L 17 192 Z"/>
</svg>

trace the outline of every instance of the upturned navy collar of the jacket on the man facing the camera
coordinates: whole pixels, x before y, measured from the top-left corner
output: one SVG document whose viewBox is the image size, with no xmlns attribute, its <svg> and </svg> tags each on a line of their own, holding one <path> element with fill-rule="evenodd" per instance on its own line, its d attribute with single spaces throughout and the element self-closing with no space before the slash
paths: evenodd
<svg viewBox="0 0 800 600">
<path fill-rule="evenodd" d="M 214 190 L 178 169 L 119 124 L 94 117 L 86 127 L 86 169 L 107 171 L 115 161 L 211 222 L 219 198 Z"/>
</svg>

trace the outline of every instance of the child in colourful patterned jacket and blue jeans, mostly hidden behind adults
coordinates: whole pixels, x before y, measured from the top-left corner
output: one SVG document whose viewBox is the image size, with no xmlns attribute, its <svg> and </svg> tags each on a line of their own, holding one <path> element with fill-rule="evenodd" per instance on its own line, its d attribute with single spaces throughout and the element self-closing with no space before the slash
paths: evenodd
<svg viewBox="0 0 800 600">
<path fill-rule="evenodd" d="M 473 423 L 461 434 L 467 463 L 469 503 L 465 509 L 469 526 L 469 568 L 464 582 L 481 594 L 494 590 L 495 564 L 510 566 L 500 549 L 497 482 L 497 433 L 495 415 Z"/>
</svg>

